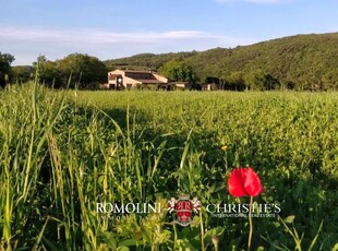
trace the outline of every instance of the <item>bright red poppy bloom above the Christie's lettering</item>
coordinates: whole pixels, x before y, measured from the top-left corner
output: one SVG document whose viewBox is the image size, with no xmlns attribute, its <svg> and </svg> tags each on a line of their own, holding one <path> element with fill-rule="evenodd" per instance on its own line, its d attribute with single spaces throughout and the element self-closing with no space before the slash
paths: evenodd
<svg viewBox="0 0 338 251">
<path fill-rule="evenodd" d="M 263 192 L 263 187 L 252 168 L 237 168 L 230 172 L 228 190 L 232 196 L 257 196 Z"/>
</svg>

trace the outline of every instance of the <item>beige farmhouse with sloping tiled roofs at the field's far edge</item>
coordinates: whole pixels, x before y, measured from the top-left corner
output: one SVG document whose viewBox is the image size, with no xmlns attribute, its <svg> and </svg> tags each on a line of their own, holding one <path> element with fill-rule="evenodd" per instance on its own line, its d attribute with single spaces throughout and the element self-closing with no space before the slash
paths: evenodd
<svg viewBox="0 0 338 251">
<path fill-rule="evenodd" d="M 108 72 L 107 88 L 130 89 L 168 86 L 168 79 L 154 71 L 114 70 Z"/>
</svg>

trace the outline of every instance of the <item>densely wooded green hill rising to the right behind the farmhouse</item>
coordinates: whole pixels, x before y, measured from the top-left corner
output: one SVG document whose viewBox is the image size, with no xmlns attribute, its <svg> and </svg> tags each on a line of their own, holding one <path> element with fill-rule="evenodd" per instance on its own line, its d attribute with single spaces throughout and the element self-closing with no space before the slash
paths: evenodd
<svg viewBox="0 0 338 251">
<path fill-rule="evenodd" d="M 109 70 L 160 70 L 169 61 L 189 65 L 200 83 L 228 89 L 338 89 L 338 33 L 283 37 L 236 48 L 142 53 L 107 60 Z"/>
</svg>

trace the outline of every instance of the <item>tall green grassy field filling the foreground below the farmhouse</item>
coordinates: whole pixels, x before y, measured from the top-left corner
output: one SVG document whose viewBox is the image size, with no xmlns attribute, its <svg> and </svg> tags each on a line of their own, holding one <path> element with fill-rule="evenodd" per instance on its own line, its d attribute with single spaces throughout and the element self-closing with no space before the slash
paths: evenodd
<svg viewBox="0 0 338 251">
<path fill-rule="evenodd" d="M 254 218 L 253 250 L 337 250 L 337 93 L 1 91 L 0 249 L 245 250 L 246 218 L 204 206 L 180 227 L 96 205 L 248 203 L 227 179 L 251 166 L 255 200 L 281 208 Z"/>
</svg>

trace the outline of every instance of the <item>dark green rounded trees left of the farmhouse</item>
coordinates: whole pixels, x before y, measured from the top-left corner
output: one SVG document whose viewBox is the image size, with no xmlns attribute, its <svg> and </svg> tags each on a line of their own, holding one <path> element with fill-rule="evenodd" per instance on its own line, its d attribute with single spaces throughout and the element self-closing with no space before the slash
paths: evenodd
<svg viewBox="0 0 338 251">
<path fill-rule="evenodd" d="M 51 61 L 39 56 L 33 65 L 11 67 L 14 57 L 0 55 L 1 86 L 5 83 L 26 83 L 37 77 L 40 83 L 49 87 L 61 88 L 98 88 L 100 83 L 107 82 L 106 64 L 96 57 L 71 53 L 61 60 Z M 11 59 L 11 60 L 9 60 Z M 3 77 L 7 75 L 7 79 Z"/>
</svg>

